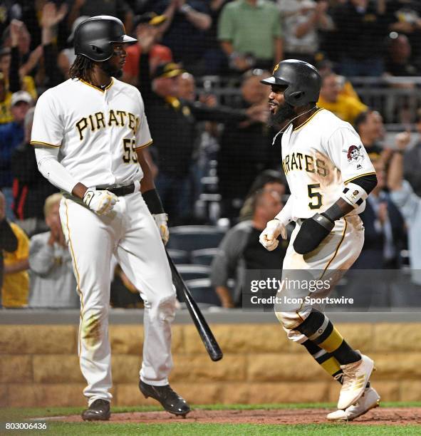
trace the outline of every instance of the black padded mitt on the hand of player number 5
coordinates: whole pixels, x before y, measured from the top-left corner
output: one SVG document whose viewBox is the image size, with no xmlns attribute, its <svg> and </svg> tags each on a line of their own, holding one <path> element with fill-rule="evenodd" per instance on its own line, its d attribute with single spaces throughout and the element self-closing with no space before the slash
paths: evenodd
<svg viewBox="0 0 421 436">
<path fill-rule="evenodd" d="M 301 224 L 293 249 L 298 254 L 310 253 L 331 233 L 333 227 L 335 222 L 326 217 L 326 214 L 313 215 Z"/>
</svg>

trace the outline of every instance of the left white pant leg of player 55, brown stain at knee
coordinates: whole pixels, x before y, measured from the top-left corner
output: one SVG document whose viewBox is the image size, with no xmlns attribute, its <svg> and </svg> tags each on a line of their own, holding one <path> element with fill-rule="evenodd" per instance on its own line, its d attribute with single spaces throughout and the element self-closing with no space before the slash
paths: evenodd
<svg viewBox="0 0 421 436">
<path fill-rule="evenodd" d="M 80 295 L 78 355 L 88 383 L 83 393 L 89 404 L 98 398 L 111 400 L 110 257 L 118 215 L 98 217 L 83 205 L 63 199 L 60 216 Z"/>
</svg>

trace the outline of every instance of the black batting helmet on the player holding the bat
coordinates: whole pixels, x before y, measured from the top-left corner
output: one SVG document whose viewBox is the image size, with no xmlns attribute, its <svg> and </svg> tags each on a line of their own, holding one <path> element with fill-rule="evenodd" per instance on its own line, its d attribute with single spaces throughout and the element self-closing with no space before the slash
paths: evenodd
<svg viewBox="0 0 421 436">
<path fill-rule="evenodd" d="M 108 61 L 113 56 L 111 43 L 135 43 L 127 36 L 123 23 L 114 16 L 97 15 L 79 24 L 75 31 L 75 53 L 91 61 Z"/>
</svg>

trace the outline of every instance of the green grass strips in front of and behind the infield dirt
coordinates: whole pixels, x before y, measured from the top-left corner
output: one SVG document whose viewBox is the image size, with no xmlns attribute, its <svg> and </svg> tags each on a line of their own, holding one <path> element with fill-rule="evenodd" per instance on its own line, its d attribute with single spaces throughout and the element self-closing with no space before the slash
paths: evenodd
<svg viewBox="0 0 421 436">
<path fill-rule="evenodd" d="M 421 403 L 384 403 L 388 407 L 421 407 Z M 255 410 L 255 409 L 299 409 L 333 408 L 332 404 L 271 404 L 271 405 L 197 405 L 194 409 L 204 410 Z M 155 407 L 113 408 L 118 412 L 146 412 L 161 410 Z M 51 422 L 48 430 L 5 430 L 5 422 L 24 422 L 33 417 L 77 415 L 80 408 L 31 408 L 0 409 L 0 435 L 48 434 L 48 435 L 421 435 L 421 425 L 349 425 L 326 423 L 308 425 L 265 425 L 265 424 L 203 424 L 182 423 L 141 424 L 141 423 L 96 423 L 96 422 Z"/>
</svg>

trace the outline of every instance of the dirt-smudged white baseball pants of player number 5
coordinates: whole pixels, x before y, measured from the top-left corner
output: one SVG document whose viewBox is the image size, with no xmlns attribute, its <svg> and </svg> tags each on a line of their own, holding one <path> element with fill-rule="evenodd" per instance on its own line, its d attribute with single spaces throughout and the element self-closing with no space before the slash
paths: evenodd
<svg viewBox="0 0 421 436">
<path fill-rule="evenodd" d="M 304 255 L 293 249 L 299 229 L 298 222 L 286 251 L 282 268 L 283 286 L 276 295 L 274 309 L 288 338 L 303 343 L 306 336 L 294 328 L 307 318 L 313 307 L 324 310 L 324 306 L 306 303 L 306 296 L 323 298 L 331 294 L 334 286 L 360 255 L 364 244 L 364 227 L 358 215 L 338 219 L 331 234 L 318 248 Z M 318 281 L 320 289 L 310 291 L 303 286 L 305 281 L 313 281 L 314 286 Z"/>
</svg>

